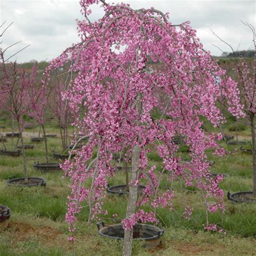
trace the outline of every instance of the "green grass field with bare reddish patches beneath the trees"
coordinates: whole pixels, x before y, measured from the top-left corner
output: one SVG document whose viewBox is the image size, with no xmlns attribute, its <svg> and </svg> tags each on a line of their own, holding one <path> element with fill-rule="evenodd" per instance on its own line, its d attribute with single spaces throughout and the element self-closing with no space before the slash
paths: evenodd
<svg viewBox="0 0 256 256">
<path fill-rule="evenodd" d="M 225 132 L 235 134 L 227 131 L 227 127 Z M 8 125 L 3 129 L 10 130 Z M 58 133 L 57 125 L 49 123 L 46 132 Z M 239 132 L 239 138 L 250 140 L 249 136 L 249 127 Z M 25 144 L 31 144 L 29 138 L 25 138 Z M 8 139 L 6 145 L 11 145 L 11 139 Z M 59 138 L 48 138 L 48 145 L 49 152 L 61 151 Z M 225 194 L 229 189 L 231 192 L 252 190 L 251 155 L 239 152 L 238 146 L 229 146 L 225 142 L 221 145 L 232 153 L 219 158 L 211 156 L 209 151 L 208 159 L 215 161 L 211 167 L 212 172 L 228 174 L 221 183 Z M 187 152 L 180 154 L 183 159 L 188 157 Z M 35 161 L 45 162 L 43 143 L 35 144 L 32 150 L 26 150 L 26 156 L 29 176 L 42 177 L 47 185 L 45 188 L 7 186 L 5 180 L 9 176 L 23 176 L 22 157 L 0 156 L 0 204 L 10 207 L 12 211 L 8 228 L 0 232 L 0 255 L 121 255 L 122 242 L 103 239 L 97 234 L 95 224 L 87 226 L 86 207 L 78 217 L 76 242 L 72 244 L 67 240 L 69 232 L 65 213 L 69 180 L 62 178 L 61 171 L 45 173 L 33 169 Z M 51 162 L 56 161 L 50 159 Z M 149 154 L 149 159 L 150 165 L 161 166 L 160 158 L 155 153 Z M 109 184 L 124 182 L 124 173 L 119 172 L 115 178 L 110 179 Z M 166 181 L 161 183 L 163 188 L 168 185 Z M 223 227 L 227 235 L 208 233 L 203 229 L 205 215 L 199 191 L 193 187 L 185 190 L 181 185 L 178 181 L 174 184 L 177 190 L 173 199 L 174 211 L 157 211 L 159 226 L 166 230 L 161 245 L 146 250 L 140 242 L 135 242 L 133 255 L 255 255 L 256 204 L 232 204 L 225 196 L 225 214 L 210 214 L 210 222 Z M 188 221 L 183 218 L 187 203 L 194 208 L 191 220 Z M 107 196 L 104 208 L 109 214 L 104 215 L 103 220 L 110 224 L 119 223 L 120 219 L 112 219 L 112 214 L 118 213 L 118 218 L 125 216 L 126 197 Z"/>
</svg>

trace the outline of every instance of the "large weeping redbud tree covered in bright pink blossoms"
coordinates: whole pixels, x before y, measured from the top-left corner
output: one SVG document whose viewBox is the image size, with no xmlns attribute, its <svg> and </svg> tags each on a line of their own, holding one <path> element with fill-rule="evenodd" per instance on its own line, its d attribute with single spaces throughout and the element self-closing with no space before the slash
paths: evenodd
<svg viewBox="0 0 256 256">
<path fill-rule="evenodd" d="M 91 22 L 90 5 L 100 2 L 105 14 Z M 173 25 L 168 14 L 154 8 L 133 10 L 128 4 L 112 5 L 103 0 L 84 0 L 80 5 L 85 16 L 84 21 L 78 21 L 80 42 L 53 60 L 46 72 L 50 76 L 52 69 L 71 60 L 69 71 L 76 76 L 63 96 L 78 116 L 82 106 L 87 109 L 75 125 L 80 133 L 86 131 L 82 135 L 90 137 L 89 141 L 74 160 L 66 160 L 62 166 L 72 179 L 66 220 L 74 231 L 76 214 L 85 200 L 90 208 L 89 221 L 102 213 L 107 180 L 116 173 L 113 155 L 125 152 L 124 160 L 132 159 L 132 172 L 123 219 L 123 253 L 130 255 L 133 226 L 138 221 L 157 223 L 155 211 L 145 212 L 140 206 L 150 204 L 172 211 L 175 191 L 172 187 L 159 190 L 163 173 L 170 181 L 183 179 L 186 186 L 199 188 L 206 215 L 208 211 L 224 211 L 224 193 L 218 187 L 222 178 L 210 176 L 205 153 L 213 148 L 215 154 L 224 154 L 217 142 L 221 134 L 206 133 L 199 117 L 214 126 L 224 122 L 216 104 L 221 95 L 228 98 L 230 112 L 239 116 L 239 91 L 229 77 L 216 83 L 216 77 L 223 78 L 225 71 L 203 49 L 189 22 Z M 149 59 L 161 68 L 154 68 Z M 167 97 L 167 104 L 159 100 L 159 93 Z M 156 109 L 161 114 L 152 118 Z M 183 134 L 190 146 L 190 165 L 179 164 L 178 146 L 172 143 L 176 134 Z M 152 147 L 163 159 L 161 171 L 148 165 L 147 152 Z M 142 179 L 147 185 L 143 196 L 138 197 Z M 90 187 L 84 186 L 86 180 L 91 180 Z M 214 228 L 207 218 L 206 229 Z"/>
</svg>

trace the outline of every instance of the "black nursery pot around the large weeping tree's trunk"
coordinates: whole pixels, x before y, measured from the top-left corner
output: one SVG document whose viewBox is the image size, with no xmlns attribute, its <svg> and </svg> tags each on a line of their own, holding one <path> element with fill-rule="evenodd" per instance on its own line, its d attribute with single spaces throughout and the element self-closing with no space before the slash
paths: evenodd
<svg viewBox="0 0 256 256">
<path fill-rule="evenodd" d="M 97 224 L 98 234 L 102 237 L 122 240 L 124 239 L 123 224 L 107 226 L 104 223 Z M 164 230 L 157 226 L 147 224 L 136 224 L 133 227 L 133 239 L 145 241 L 144 247 L 151 248 L 160 244 L 160 238 Z"/>
</svg>

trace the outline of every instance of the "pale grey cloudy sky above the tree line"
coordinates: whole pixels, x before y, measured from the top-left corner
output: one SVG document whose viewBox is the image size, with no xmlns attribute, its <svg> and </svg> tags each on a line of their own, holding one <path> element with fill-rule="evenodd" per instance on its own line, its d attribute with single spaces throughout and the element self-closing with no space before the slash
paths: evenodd
<svg viewBox="0 0 256 256">
<path fill-rule="evenodd" d="M 106 2 L 121 1 L 106 0 Z M 170 12 L 170 21 L 175 24 L 191 21 L 204 48 L 210 50 L 213 55 L 220 55 L 221 52 L 212 43 L 224 51 L 229 49 L 213 36 L 210 29 L 232 44 L 235 49 L 240 44 L 239 49 L 246 50 L 252 44 L 252 33 L 240 20 L 255 27 L 254 0 L 123 0 L 123 2 L 130 3 L 134 9 L 154 6 L 163 12 Z M 5 49 L 12 43 L 22 41 L 10 48 L 8 56 L 31 44 L 15 57 L 18 62 L 31 59 L 51 60 L 66 47 L 78 42 L 75 19 L 82 19 L 79 9 L 79 0 L 0 0 L 0 23 L 14 22 L 4 34 L 0 47 Z M 93 6 L 92 10 L 91 20 L 102 17 L 103 12 L 98 6 Z"/>
</svg>

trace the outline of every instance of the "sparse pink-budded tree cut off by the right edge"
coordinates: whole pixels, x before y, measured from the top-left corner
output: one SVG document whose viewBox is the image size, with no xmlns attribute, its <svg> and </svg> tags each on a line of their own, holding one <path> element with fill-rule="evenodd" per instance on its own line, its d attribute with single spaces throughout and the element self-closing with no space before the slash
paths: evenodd
<svg viewBox="0 0 256 256">
<path fill-rule="evenodd" d="M 255 28 L 253 25 L 242 22 L 245 26 L 252 31 L 252 46 L 251 48 L 256 50 L 255 42 Z M 215 33 L 214 33 L 215 35 Z M 215 35 L 217 36 L 217 35 Z M 217 36 L 218 37 L 218 36 Z M 222 42 L 227 44 L 231 51 L 236 55 L 232 45 L 225 42 L 223 39 L 218 37 Z M 220 49 L 220 48 L 219 48 Z M 256 113 L 256 73 L 255 66 L 254 69 L 250 68 L 247 64 L 245 58 L 237 56 L 235 58 L 230 58 L 234 64 L 234 72 L 237 75 L 237 81 L 240 90 L 240 102 L 243 105 L 243 112 L 251 127 L 251 136 L 252 136 L 252 168 L 253 168 L 253 197 L 256 198 L 256 145 L 255 145 L 255 113 Z M 255 60 L 254 60 L 255 62 Z M 254 63 L 255 65 L 255 63 Z"/>
</svg>

